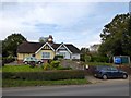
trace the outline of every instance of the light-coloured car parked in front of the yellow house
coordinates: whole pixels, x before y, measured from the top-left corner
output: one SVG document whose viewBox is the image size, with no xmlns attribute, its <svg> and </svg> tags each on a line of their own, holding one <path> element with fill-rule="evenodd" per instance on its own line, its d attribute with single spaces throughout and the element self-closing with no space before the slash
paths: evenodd
<svg viewBox="0 0 131 98">
<path fill-rule="evenodd" d="M 29 64 L 31 62 L 35 62 L 36 64 L 44 63 L 43 60 L 38 60 L 35 57 L 27 57 L 23 60 L 23 63 L 25 63 L 25 64 Z"/>
</svg>

